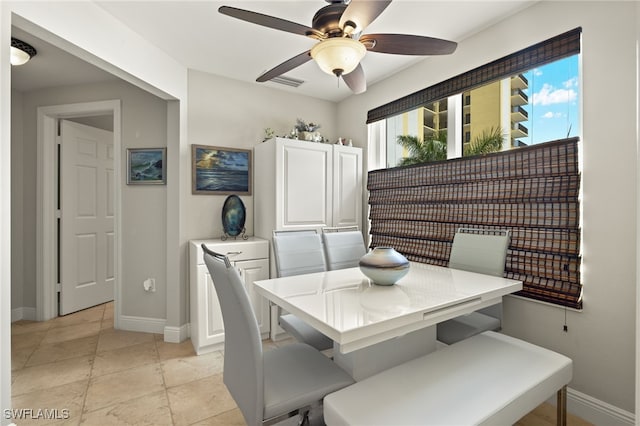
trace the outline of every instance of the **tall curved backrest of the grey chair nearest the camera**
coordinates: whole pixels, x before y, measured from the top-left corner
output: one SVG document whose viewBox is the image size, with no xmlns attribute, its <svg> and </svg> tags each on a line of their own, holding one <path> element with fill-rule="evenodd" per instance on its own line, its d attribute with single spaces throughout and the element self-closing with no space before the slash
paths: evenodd
<svg viewBox="0 0 640 426">
<path fill-rule="evenodd" d="M 229 259 L 204 244 L 202 250 L 224 322 L 224 384 L 247 424 L 261 424 L 264 372 L 258 322 L 240 275 Z"/>
</svg>

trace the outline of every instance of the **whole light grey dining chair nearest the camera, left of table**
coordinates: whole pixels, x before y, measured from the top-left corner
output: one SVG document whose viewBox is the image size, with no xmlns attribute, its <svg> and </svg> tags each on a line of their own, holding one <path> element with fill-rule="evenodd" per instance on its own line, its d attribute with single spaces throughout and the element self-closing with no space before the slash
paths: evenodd
<svg viewBox="0 0 640 426">
<path fill-rule="evenodd" d="M 238 271 L 202 244 L 224 323 L 223 381 L 248 425 L 271 425 L 300 416 L 312 405 L 354 383 L 344 370 L 304 343 L 262 350 L 260 329 Z"/>
</svg>

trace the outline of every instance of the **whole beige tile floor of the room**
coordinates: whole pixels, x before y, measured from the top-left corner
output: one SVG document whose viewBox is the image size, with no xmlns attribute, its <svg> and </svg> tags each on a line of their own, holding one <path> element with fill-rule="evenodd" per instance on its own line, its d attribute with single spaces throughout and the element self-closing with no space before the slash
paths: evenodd
<svg viewBox="0 0 640 426">
<path fill-rule="evenodd" d="M 112 303 L 14 322 L 11 338 L 13 409 L 31 410 L 23 411 L 31 418 L 14 420 L 19 426 L 245 424 L 222 383 L 221 352 L 196 356 L 190 340 L 114 330 Z M 58 419 L 46 420 L 38 409 Z M 548 404 L 518 422 L 552 424 Z M 569 424 L 588 423 L 571 416 Z"/>
</svg>

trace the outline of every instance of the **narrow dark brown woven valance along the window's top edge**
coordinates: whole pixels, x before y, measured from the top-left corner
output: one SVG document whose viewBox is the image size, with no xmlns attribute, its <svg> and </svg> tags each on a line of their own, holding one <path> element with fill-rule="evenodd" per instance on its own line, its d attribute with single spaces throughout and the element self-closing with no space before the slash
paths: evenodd
<svg viewBox="0 0 640 426">
<path fill-rule="evenodd" d="M 537 66 L 580 53 L 582 28 L 575 28 L 511 55 L 452 77 L 426 89 L 372 109 L 367 123 L 411 111 L 429 102 L 459 94 L 485 83 L 517 75 Z"/>
</svg>

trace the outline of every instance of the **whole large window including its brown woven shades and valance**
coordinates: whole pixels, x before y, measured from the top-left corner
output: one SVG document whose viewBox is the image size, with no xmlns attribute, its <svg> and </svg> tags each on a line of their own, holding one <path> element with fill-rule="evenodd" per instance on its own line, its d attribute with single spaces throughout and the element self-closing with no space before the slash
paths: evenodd
<svg viewBox="0 0 640 426">
<path fill-rule="evenodd" d="M 506 228 L 505 274 L 523 281 L 519 294 L 581 309 L 580 36 L 577 28 L 369 111 L 370 140 L 382 140 L 390 167 L 369 172 L 372 246 L 446 265 L 458 227 Z M 443 141 L 448 160 L 440 151 L 395 167 L 417 152 L 398 148 L 406 136 Z"/>
</svg>

